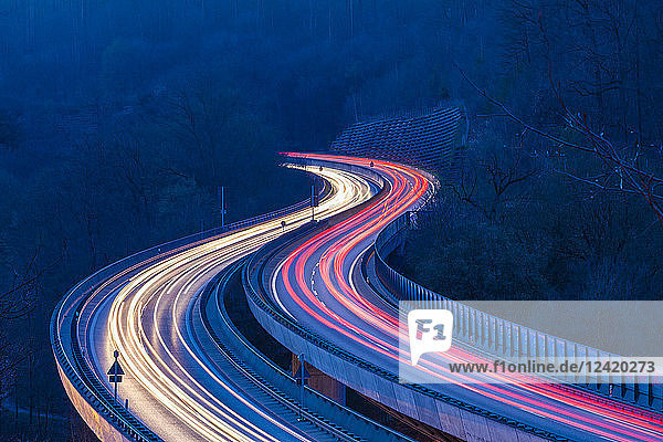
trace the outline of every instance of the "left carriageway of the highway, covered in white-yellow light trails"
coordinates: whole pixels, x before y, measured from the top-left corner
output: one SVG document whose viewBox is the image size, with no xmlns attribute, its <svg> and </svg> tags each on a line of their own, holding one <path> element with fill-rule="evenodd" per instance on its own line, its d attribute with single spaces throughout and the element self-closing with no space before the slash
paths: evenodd
<svg viewBox="0 0 663 442">
<path fill-rule="evenodd" d="M 312 171 L 332 186 L 315 209 L 316 219 L 367 201 L 376 191 L 375 185 L 344 171 Z M 119 350 L 127 373 L 119 400 L 128 400 L 130 411 L 165 441 L 333 440 L 257 389 L 242 388 L 196 306 L 220 270 L 309 220 L 306 208 L 165 253 L 105 281 L 83 307 L 77 330 L 95 376 L 113 391 L 106 370 L 113 350 Z"/>
</svg>

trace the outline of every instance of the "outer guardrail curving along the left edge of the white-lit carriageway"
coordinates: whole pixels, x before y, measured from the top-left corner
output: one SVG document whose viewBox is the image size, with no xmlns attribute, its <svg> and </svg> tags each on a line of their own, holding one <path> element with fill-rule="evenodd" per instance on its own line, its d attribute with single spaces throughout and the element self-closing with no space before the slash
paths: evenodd
<svg viewBox="0 0 663 442">
<path fill-rule="evenodd" d="M 318 198 L 323 200 L 329 192 L 329 186 L 325 185 L 319 191 Z M 211 229 L 156 245 L 109 264 L 80 282 L 60 301 L 51 316 L 51 347 L 61 375 L 66 377 L 66 381 L 92 410 L 98 413 L 98 417 L 115 428 L 124 438 L 138 442 L 160 442 L 161 439 L 157 434 L 144 425 L 122 403 L 113 399 L 108 389 L 104 387 L 92 367 L 87 364 L 87 360 L 83 357 L 78 340 L 78 318 L 85 302 L 93 296 L 99 284 L 138 264 L 148 264 L 158 257 L 178 253 L 206 241 L 221 238 L 230 232 L 294 213 L 309 207 L 309 204 L 311 199 L 307 199 L 284 209 L 233 222 L 223 228 Z M 64 382 L 65 379 L 63 379 Z M 65 385 L 65 387 L 67 386 Z M 69 388 L 67 393 L 71 397 Z M 74 400 L 73 397 L 71 398 Z M 91 424 L 90 422 L 87 423 Z M 95 428 L 93 430 L 101 431 Z"/>
</svg>

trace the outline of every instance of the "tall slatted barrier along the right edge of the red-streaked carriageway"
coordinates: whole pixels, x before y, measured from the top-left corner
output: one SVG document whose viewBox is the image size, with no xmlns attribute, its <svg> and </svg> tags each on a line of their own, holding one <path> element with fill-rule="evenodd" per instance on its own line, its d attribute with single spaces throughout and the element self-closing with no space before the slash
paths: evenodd
<svg viewBox="0 0 663 442">
<path fill-rule="evenodd" d="M 454 339 L 459 339 L 474 348 L 488 354 L 507 358 L 544 358 L 546 362 L 573 358 L 581 362 L 589 358 L 618 358 L 607 351 L 577 344 L 557 336 L 522 326 L 488 315 L 476 308 L 440 295 L 408 277 L 387 264 L 387 256 L 402 244 L 409 230 L 418 229 L 423 221 L 423 213 L 410 211 L 389 223 L 376 239 L 376 273 L 385 287 L 398 301 L 417 301 L 430 308 L 445 308 L 453 313 Z M 660 379 L 651 375 L 638 376 L 639 382 L 614 383 L 609 373 L 604 376 L 578 376 L 578 388 L 591 390 L 611 400 L 613 406 L 621 406 L 631 412 L 663 419 L 661 414 L 633 408 L 631 404 L 646 407 L 652 410 L 663 409 L 663 386 Z M 570 390 L 570 387 L 559 386 Z"/>
</svg>

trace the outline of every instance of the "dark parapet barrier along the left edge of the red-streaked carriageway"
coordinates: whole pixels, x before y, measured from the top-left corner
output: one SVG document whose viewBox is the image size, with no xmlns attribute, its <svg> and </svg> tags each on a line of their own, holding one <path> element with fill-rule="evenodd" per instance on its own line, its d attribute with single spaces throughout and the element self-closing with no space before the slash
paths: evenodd
<svg viewBox="0 0 663 442">
<path fill-rule="evenodd" d="M 316 166 L 315 160 L 313 160 L 313 159 L 307 159 L 307 160 L 311 166 Z M 325 161 L 325 162 L 333 162 L 333 161 Z M 336 167 L 338 167 L 337 164 L 336 164 Z M 360 166 L 356 166 L 356 167 L 358 169 L 366 169 Z M 377 173 L 373 170 L 369 170 L 369 172 Z M 382 178 L 382 182 L 385 185 L 387 183 L 387 181 L 383 178 Z M 436 181 L 434 181 L 433 185 L 436 186 Z M 424 202 L 428 202 L 432 198 L 432 193 L 433 193 L 433 190 L 431 191 L 431 193 L 429 193 L 427 197 L 424 197 Z M 461 408 L 463 410 L 485 417 L 487 419 L 506 424 L 506 425 L 515 428 L 517 430 L 525 431 L 530 434 L 535 434 L 540 438 L 549 439 L 552 441 L 559 441 L 559 442 L 570 442 L 570 440 L 567 438 L 560 436 L 560 435 L 555 434 L 549 431 L 545 431 L 545 430 L 532 427 L 529 424 L 525 424 L 515 419 L 507 418 L 505 415 L 483 409 L 481 407 L 476 407 L 472 403 L 457 400 L 453 397 L 443 394 L 439 391 L 432 390 L 422 385 L 400 383 L 400 379 L 397 373 L 387 371 L 387 370 L 385 370 L 360 357 L 352 355 L 349 351 L 346 351 L 345 349 L 343 349 L 343 348 L 336 346 L 335 344 L 330 343 L 329 340 L 325 339 L 320 335 L 303 327 L 297 322 L 291 319 L 288 316 L 282 314 L 280 308 L 270 301 L 271 297 L 269 295 L 269 291 L 264 286 L 263 274 L 265 273 L 267 264 L 275 255 L 277 255 L 284 249 L 288 248 L 294 242 L 298 241 L 303 236 L 306 236 L 307 234 L 309 234 L 311 232 L 313 232 L 314 230 L 316 230 L 318 228 L 319 228 L 319 225 L 315 225 L 313 223 L 301 227 L 296 230 L 293 230 L 293 231 L 286 233 L 285 235 L 280 236 L 278 239 L 270 242 L 269 244 L 263 245 L 260 250 L 257 250 L 251 256 L 250 261 L 244 266 L 244 270 L 242 272 L 242 284 L 244 286 L 244 292 L 246 294 L 246 299 L 249 302 L 249 306 L 250 306 L 251 311 L 253 312 L 254 316 L 256 316 L 256 318 L 257 318 L 257 313 L 262 312 L 262 313 L 266 314 L 266 317 L 269 317 L 270 320 L 272 320 L 274 324 L 277 324 L 278 326 L 286 328 L 290 333 L 292 333 L 296 336 L 299 336 L 301 338 L 313 344 L 314 346 L 318 347 L 319 349 L 325 350 L 325 351 L 329 352 L 330 355 L 334 355 L 335 357 L 337 357 L 344 361 L 347 361 L 356 367 L 359 367 L 370 373 L 373 373 L 387 381 L 398 383 L 399 386 L 402 386 L 403 388 L 407 388 L 407 389 L 411 390 L 412 392 L 425 394 L 430 398 L 433 398 L 434 400 L 443 401 L 453 407 Z M 318 368 L 320 368 L 320 367 L 318 367 Z"/>
</svg>

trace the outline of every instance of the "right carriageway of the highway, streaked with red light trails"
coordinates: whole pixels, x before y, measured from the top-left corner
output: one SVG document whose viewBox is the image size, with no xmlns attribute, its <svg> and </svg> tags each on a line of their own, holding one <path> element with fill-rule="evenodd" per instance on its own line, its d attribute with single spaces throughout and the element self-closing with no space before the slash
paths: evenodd
<svg viewBox="0 0 663 442">
<path fill-rule="evenodd" d="M 334 160 L 332 156 L 308 157 Z M 307 239 L 280 260 L 270 276 L 271 296 L 283 315 L 306 329 L 398 373 L 399 339 L 407 339 L 399 334 L 398 311 L 360 276 L 358 262 L 390 220 L 422 204 L 432 182 L 402 165 L 349 157 L 338 160 L 372 165 L 390 182 L 390 189 L 359 213 Z M 424 369 L 446 380 L 427 387 L 570 440 L 663 440 L 663 421 L 656 413 L 612 407 L 591 393 L 575 394 L 554 385 L 497 385 L 496 378 L 491 379 L 497 375 L 486 375 L 485 382 L 464 382 L 462 375 L 446 369 L 448 361 L 481 360 L 488 359 L 466 346 L 427 356 L 422 359 Z"/>
</svg>

